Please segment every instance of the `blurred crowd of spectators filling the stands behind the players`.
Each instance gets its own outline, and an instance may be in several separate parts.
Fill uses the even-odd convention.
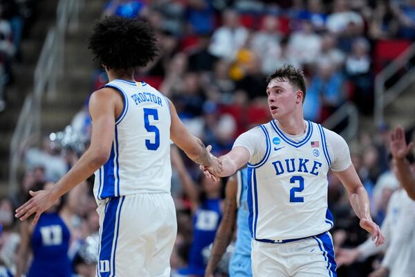
[[[374,75],[396,57],[391,52],[397,55],[415,39],[414,0],[110,0],[104,15],[145,20],[156,30],[160,55],[136,73],[136,80],[169,97],[186,127],[205,145],[212,145],[215,155],[228,152],[242,132],[270,120],[266,76],[278,66],[293,64],[306,74],[306,119],[321,123],[347,101],[370,115]],[[378,55],[388,48],[390,55]],[[106,82],[107,75],[97,68],[91,91]],[[0,200],[0,263],[5,270],[15,270],[21,258],[20,240],[27,235],[13,219],[15,207],[28,198],[28,190],[62,177],[88,147],[90,132],[86,100],[70,126],[45,136],[42,148],[22,145],[26,171],[21,193]],[[372,217],[379,225],[388,216],[389,198],[399,189],[388,158],[390,132],[383,123],[376,126],[376,134],[360,131],[350,145],[353,164],[369,193]],[[409,141],[414,141],[412,133],[413,129],[407,132]],[[203,249],[212,243],[221,219],[221,209],[212,207],[220,206],[226,180],[212,184],[174,146],[172,165],[178,220],[172,276],[203,276]],[[99,224],[92,181],[78,186],[62,202],[57,213],[71,232],[68,256],[73,271],[95,276]],[[379,267],[385,251],[360,259],[351,256],[350,249],[365,242],[367,233],[360,229],[347,193],[334,175],[329,175],[329,208],[342,265],[338,276],[368,276]],[[205,222],[194,222],[194,215],[206,209],[210,213],[203,217]],[[194,251],[199,253],[196,258],[190,255]],[[225,268],[218,276],[227,276]]]

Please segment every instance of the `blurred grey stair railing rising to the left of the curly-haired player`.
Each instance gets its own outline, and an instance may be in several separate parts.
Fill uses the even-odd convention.
[[[39,134],[41,127],[42,96],[47,99],[56,95],[57,79],[64,74],[64,44],[66,30],[76,30],[83,0],[59,0],[56,25],[48,30],[33,76],[33,91],[28,93],[19,114],[17,126],[10,143],[9,193],[19,189],[18,175],[21,168],[21,145],[30,135]]]

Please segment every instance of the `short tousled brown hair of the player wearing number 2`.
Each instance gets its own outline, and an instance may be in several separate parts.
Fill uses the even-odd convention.
[[[284,64],[277,69],[273,74],[266,78],[266,83],[269,84],[271,80],[277,79],[279,82],[290,82],[303,92],[303,103],[306,99],[306,80],[301,69],[296,69],[293,64]]]

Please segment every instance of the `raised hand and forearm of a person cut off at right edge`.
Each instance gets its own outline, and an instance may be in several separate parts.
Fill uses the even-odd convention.
[[[390,149],[391,154],[396,161],[398,179],[400,184],[402,184],[403,188],[407,191],[409,197],[415,200],[415,177],[412,175],[407,159],[405,159],[413,145],[413,142],[407,145],[402,127],[397,127],[395,132],[391,134]]]

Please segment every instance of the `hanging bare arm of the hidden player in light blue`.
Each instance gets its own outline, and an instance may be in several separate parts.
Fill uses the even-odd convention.
[[[223,217],[214,238],[212,253],[210,254],[205,277],[212,277],[226,247],[232,240],[237,212],[237,177],[232,175],[226,184],[226,197],[224,201]]]

